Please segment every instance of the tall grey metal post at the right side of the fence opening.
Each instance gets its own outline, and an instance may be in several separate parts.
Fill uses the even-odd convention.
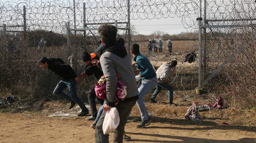
[[[200,0],[200,17],[198,18],[198,40],[199,40],[199,63],[198,63],[198,88],[201,88],[201,23],[202,23],[202,1]]]

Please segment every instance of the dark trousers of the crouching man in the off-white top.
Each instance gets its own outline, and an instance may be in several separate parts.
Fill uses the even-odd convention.
[[[151,96],[152,99],[156,99],[156,95],[160,93],[162,88],[168,89],[168,99],[169,103],[173,103],[173,86],[168,83],[157,83],[156,90]]]

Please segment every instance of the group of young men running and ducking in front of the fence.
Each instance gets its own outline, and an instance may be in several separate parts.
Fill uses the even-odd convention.
[[[86,116],[89,111],[76,94],[76,82],[81,81],[83,77],[95,75],[100,79],[102,75],[106,79],[106,98],[104,100],[98,98],[93,88],[88,94],[88,102],[90,104],[91,116],[87,120],[94,120],[91,127],[95,129],[95,142],[109,142],[109,135],[104,135],[102,124],[106,115],[106,111],[111,107],[117,108],[119,112],[120,122],[114,131],[114,142],[122,142],[129,140],[130,137],[124,133],[124,127],[131,113],[132,107],[137,103],[141,114],[141,122],[137,127],[145,127],[151,124],[148,111],[144,104],[143,98],[150,90],[156,87],[150,102],[156,103],[155,98],[162,88],[168,89],[169,105],[173,104],[173,87],[170,85],[170,79],[175,73],[176,60],[165,62],[155,72],[149,59],[140,53],[139,44],[133,44],[130,53],[134,57],[132,64],[129,54],[124,46],[124,39],[116,38],[117,28],[114,25],[101,25],[98,32],[104,47],[97,53],[84,52],[82,56],[83,62],[86,64],[85,70],[80,76],[77,76],[70,65],[66,65],[60,58],[40,59],[40,67],[42,69],[50,69],[57,75],[61,76],[61,81],[57,84],[53,94],[61,95],[71,101],[70,109],[78,104],[81,113],[78,116]],[[134,70],[136,69],[136,70]],[[138,74],[136,74],[139,72]],[[135,75],[136,74],[136,75]],[[119,78],[117,78],[119,75]],[[126,86],[127,94],[124,100],[119,100],[119,104],[115,103],[116,90],[118,80],[121,80]],[[141,80],[141,85],[137,88],[136,81]],[[63,89],[68,88],[70,95],[63,93]],[[98,99],[102,105],[97,112],[95,99]]]

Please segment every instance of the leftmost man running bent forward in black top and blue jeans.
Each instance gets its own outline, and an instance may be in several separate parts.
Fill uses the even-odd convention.
[[[86,108],[85,104],[81,101],[80,98],[77,97],[76,94],[76,81],[78,80],[78,77],[76,76],[76,73],[74,70],[70,67],[70,65],[64,64],[63,60],[60,58],[46,58],[43,57],[39,60],[40,68],[42,69],[49,69],[55,74],[61,76],[62,80],[58,82],[56,88],[53,90],[53,94],[60,95],[63,98],[66,98],[67,100],[71,101],[70,108],[73,108],[75,104],[77,103],[81,108],[81,113],[78,114],[78,116],[86,116],[89,111]],[[67,95],[62,92],[65,88],[68,88],[70,91],[70,95]]]

